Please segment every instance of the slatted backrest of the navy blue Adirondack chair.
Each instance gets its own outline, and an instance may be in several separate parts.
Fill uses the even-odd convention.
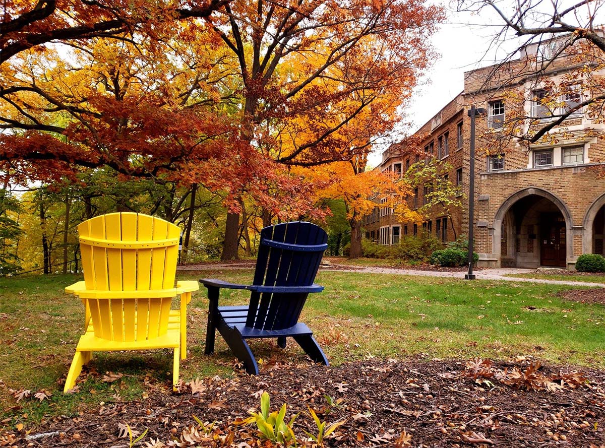
[[[328,235],[310,222],[284,222],[261,230],[253,285],[306,287],[313,284]],[[246,325],[283,330],[298,322],[309,293],[253,293]],[[260,296],[260,297],[259,297]],[[260,299],[260,300],[259,300]]]

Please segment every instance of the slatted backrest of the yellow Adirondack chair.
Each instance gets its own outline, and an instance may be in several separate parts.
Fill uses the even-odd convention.
[[[168,330],[180,229],[140,213],[110,213],[78,226],[94,335],[137,341]]]

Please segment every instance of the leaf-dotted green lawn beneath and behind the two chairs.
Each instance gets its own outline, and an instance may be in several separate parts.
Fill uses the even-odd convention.
[[[178,279],[201,277],[249,282],[252,270],[180,272]],[[62,395],[57,383],[67,374],[82,333],[83,305],[63,292],[77,276],[18,276],[0,280],[0,411],[27,421],[69,414],[100,401],[139,400],[150,387],[168,387],[172,354],[166,350],[95,354],[81,392]],[[333,364],[363,357],[425,359],[480,356],[505,359],[532,354],[555,363],[605,367],[605,307],[566,302],[561,285],[410,277],[355,272],[320,272],[321,294],[311,294],[302,320]],[[245,303],[244,291],[224,290],[222,304]],[[203,354],[208,301],[194,294],[188,313],[189,356],[180,377],[229,375],[234,356],[217,336],[212,357]],[[253,341],[257,358],[277,355],[306,363],[292,342],[285,351],[273,341]],[[95,374],[97,372],[98,374]],[[124,376],[102,381],[105,372]],[[44,389],[53,394],[39,403],[16,406],[8,388]],[[27,422],[26,422],[27,423]],[[2,425],[0,424],[0,429]]]

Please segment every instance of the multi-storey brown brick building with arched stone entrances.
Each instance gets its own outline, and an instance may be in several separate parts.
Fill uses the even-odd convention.
[[[553,62],[544,54],[556,50],[561,39],[565,37],[541,47],[529,45],[520,59],[506,64],[465,73],[464,91],[416,132],[425,135],[420,148],[427,157],[450,165],[446,176],[464,193],[460,196],[462,207],[449,216],[434,210],[420,227],[397,222],[393,210],[378,206],[365,219],[365,238],[396,244],[404,235],[423,231],[444,242],[468,234],[467,112],[476,105],[487,111],[486,117],[476,119],[473,200],[474,248],[479,265],[573,269],[582,253],[604,253],[605,181],[598,178],[598,170],[605,160],[605,142],[599,137],[605,125],[591,121],[586,110],[580,109],[552,129],[553,138],[548,141],[522,144],[514,139],[498,140],[498,133],[504,134],[507,111],[515,108],[539,118],[534,126],[554,120],[539,99],[544,93],[543,79],[556,83],[573,69],[574,60],[569,56],[559,56]],[[535,73],[540,68],[543,73],[538,78]],[[520,94],[514,97],[511,91]],[[579,105],[590,94],[570,88],[558,107]],[[494,149],[494,141],[499,141],[498,149]],[[405,174],[407,167],[421,159],[417,149],[394,144],[384,152],[376,169]],[[411,209],[422,204],[426,192],[422,187],[414,190],[408,197]],[[384,198],[376,198],[378,204],[381,201]]]

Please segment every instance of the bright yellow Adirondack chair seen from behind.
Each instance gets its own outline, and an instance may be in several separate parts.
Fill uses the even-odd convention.
[[[140,213],[110,213],[78,226],[84,281],[67,288],[85,305],[85,334],[65,381],[64,392],[94,351],[174,348],[173,387],[187,355],[187,304],[196,281],[177,282],[180,229]],[[171,310],[180,294],[180,310]]]

